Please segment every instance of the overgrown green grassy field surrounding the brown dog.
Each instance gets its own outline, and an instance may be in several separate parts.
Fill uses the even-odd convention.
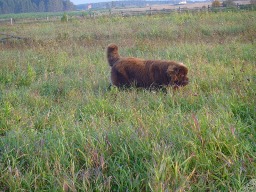
[[[1,25],[0,190],[238,191],[256,178],[256,12]],[[105,48],[189,69],[108,89]]]

